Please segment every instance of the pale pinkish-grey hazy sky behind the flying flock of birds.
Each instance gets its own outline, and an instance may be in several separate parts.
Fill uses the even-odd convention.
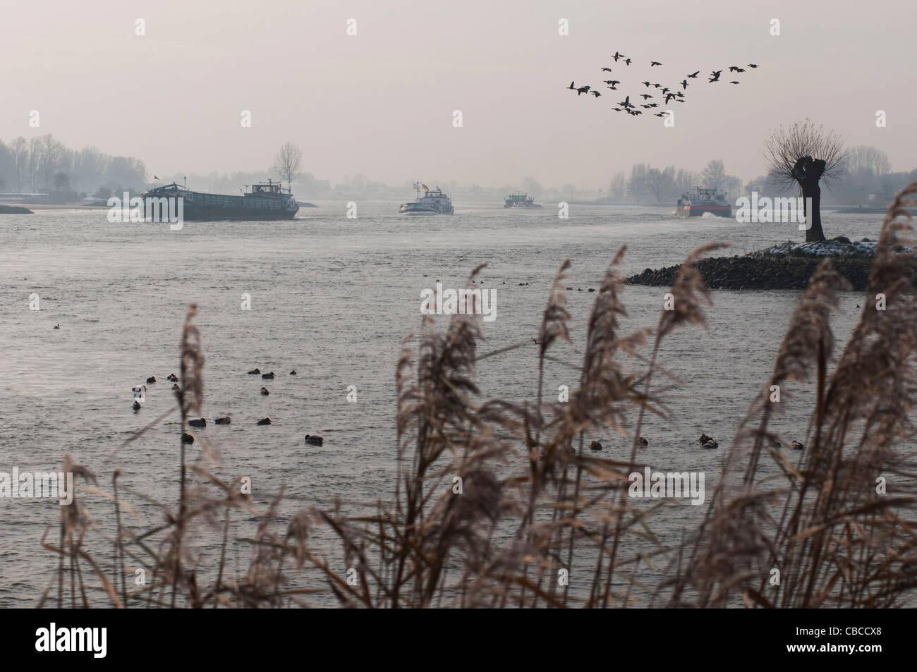
[[[283,141],[340,181],[605,187],[635,161],[763,172],[768,129],[806,116],[917,166],[914,30],[900,2],[0,0],[0,139],[52,133],[153,172],[256,170]],[[146,35],[135,34],[136,21]],[[348,19],[356,36],[348,36]],[[558,35],[558,21],[569,35]],[[770,20],[780,35],[770,35]],[[620,50],[635,62],[614,65]],[[649,61],[662,67],[649,70]],[[703,75],[759,64],[738,86]],[[602,65],[613,73],[600,72]],[[675,127],[611,111],[690,80]],[[725,72],[722,79],[734,79]],[[570,80],[619,92],[566,90]],[[621,94],[621,95],[618,95]],[[633,102],[633,98],[632,98]],[[674,104],[673,104],[674,105]],[[39,110],[40,127],[28,126]],[[453,127],[453,110],[463,127]],[[888,126],[877,128],[876,111]],[[250,110],[251,127],[240,125]]]

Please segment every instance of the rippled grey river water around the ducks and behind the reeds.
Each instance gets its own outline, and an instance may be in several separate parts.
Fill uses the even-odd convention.
[[[575,327],[560,359],[578,363],[582,325],[602,274],[627,245],[624,270],[679,263],[704,242],[724,241],[742,254],[801,239],[791,225],[738,225],[730,219],[679,220],[672,208],[571,205],[510,211],[457,204],[453,216],[404,218],[397,203],[321,203],[280,223],[109,224],[105,211],[40,211],[0,216],[0,470],[60,468],[63,456],[91,468],[110,490],[112,472],[153,500],[177,494],[177,432],[172,413],[120,452],[122,441],[166,412],[174,400],[165,379],[178,373],[178,347],[188,303],[197,303],[206,363],[204,416],[229,414],[232,424],[193,430],[220,455],[227,479],[249,475],[257,500],[286,486],[293,502],[387,499],[394,470],[394,369],[404,336],[420,325],[420,295],[463,286],[487,262],[481,279],[495,289],[497,318],[484,323],[480,352],[532,343],[554,274],[572,259],[567,285]],[[882,215],[825,214],[828,236],[875,238]],[[520,285],[520,283],[526,283]],[[580,289],[582,291],[580,291]],[[628,287],[628,329],[655,324],[664,288]],[[40,310],[29,310],[39,295]],[[241,310],[249,294],[251,310]],[[645,459],[659,468],[702,470],[711,491],[724,448],[771,369],[799,292],[713,292],[710,328],[672,336],[660,364],[679,378],[667,395],[669,419],[650,417]],[[842,298],[835,335],[856,321],[856,292]],[[439,318],[443,321],[445,318]],[[60,330],[52,327],[60,324]],[[636,366],[627,362],[628,366]],[[273,371],[262,381],[246,371]],[[296,369],[297,376],[289,371]],[[575,386],[578,372],[551,363],[548,391]],[[142,410],[131,410],[131,387],[148,376]],[[483,396],[514,401],[536,396],[536,346],[481,362]],[[270,396],[260,395],[264,384]],[[357,402],[348,402],[348,386]],[[775,425],[789,438],[806,430],[806,388]],[[256,426],[265,416],[270,426]],[[702,432],[721,441],[698,449]],[[324,446],[305,446],[304,435]],[[607,457],[629,446],[597,433]],[[110,502],[87,494],[101,538],[110,539]],[[132,500],[128,524],[156,523],[160,513]],[[0,606],[35,604],[54,579],[54,556],[42,535],[56,534],[59,507],[50,501],[0,499]],[[677,539],[704,507],[672,506],[654,531]],[[200,532],[202,538],[213,534]],[[319,537],[316,543],[321,544]],[[110,556],[110,545],[104,546]],[[333,559],[337,546],[326,548]],[[244,567],[247,551],[234,563]],[[657,572],[664,570],[658,567]]]

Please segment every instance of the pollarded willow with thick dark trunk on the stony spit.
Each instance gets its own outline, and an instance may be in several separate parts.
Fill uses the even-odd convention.
[[[824,240],[822,230],[822,187],[846,171],[844,139],[833,130],[806,119],[789,128],[772,131],[764,145],[768,170],[777,182],[799,184],[806,208],[807,243]],[[811,201],[809,199],[812,199]],[[812,204],[812,212],[809,212]]]

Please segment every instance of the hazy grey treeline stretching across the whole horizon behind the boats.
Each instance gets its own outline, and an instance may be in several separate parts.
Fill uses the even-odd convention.
[[[885,152],[874,147],[859,146],[846,153],[846,172],[833,184],[823,185],[823,204],[869,204],[887,202],[904,185],[917,179],[917,170],[891,172]],[[143,161],[133,157],[110,156],[93,147],[68,149],[50,134],[35,138],[0,141],[0,193],[49,193],[52,202],[72,201],[83,195],[107,198],[122,192],[145,191],[153,175]],[[190,189],[213,193],[239,193],[253,182],[277,179],[274,169],[237,171],[232,173],[160,174],[159,183],[187,182]],[[567,183],[542,186],[532,176],[520,182],[498,187],[479,184],[462,185],[455,180],[436,181],[435,177],[420,175],[430,188],[439,186],[458,202],[502,203],[512,192],[525,192],[536,202],[601,201],[613,204],[674,205],[681,194],[702,186],[726,193],[727,199],[757,192],[768,196],[798,195],[768,175],[743,182],[726,172],[722,160],[711,160],[702,171],[668,166],[654,168],[646,163],[632,166],[630,174],[616,173],[604,190],[586,189]],[[316,179],[311,172],[301,173],[293,182],[293,194],[300,200],[378,199],[405,201],[414,195],[417,177],[406,178],[401,184],[373,182],[363,173],[347,175],[332,184]]]

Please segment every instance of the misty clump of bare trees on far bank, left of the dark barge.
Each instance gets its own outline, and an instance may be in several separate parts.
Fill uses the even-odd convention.
[[[95,149],[68,149],[50,134],[0,140],[0,192],[49,193],[52,201],[80,194],[107,198],[134,192],[147,182],[143,161],[110,156]]]

